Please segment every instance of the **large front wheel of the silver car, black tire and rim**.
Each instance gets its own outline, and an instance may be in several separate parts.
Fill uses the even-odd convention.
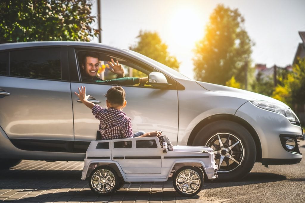
[[[218,136],[223,147],[220,146]],[[208,146],[218,151],[218,154],[215,153],[218,180],[241,179],[251,171],[255,163],[256,146],[253,137],[245,127],[232,121],[215,121],[204,126],[196,135],[193,145]]]

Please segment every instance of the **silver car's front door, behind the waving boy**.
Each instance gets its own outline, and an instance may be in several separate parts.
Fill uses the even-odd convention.
[[[82,50],[82,49],[80,49]],[[92,50],[95,52],[106,52],[105,50]],[[126,57],[121,53],[113,52],[111,55],[116,57]],[[70,71],[79,73],[79,61],[74,49],[69,49],[69,59],[72,66]],[[81,60],[81,59],[78,59]],[[136,60],[135,60],[136,61]],[[73,73],[71,73],[73,74]],[[99,130],[99,120],[95,119],[91,110],[78,101],[74,91],[80,86],[86,87],[87,95],[91,95],[91,101],[106,108],[107,90],[112,84],[84,83],[79,82],[80,78],[75,76],[74,82],[71,81],[73,115],[74,115],[74,139],[77,146],[83,145],[83,149],[88,148],[88,142],[95,140],[96,131]],[[177,141],[178,134],[178,96],[175,84],[170,89],[158,89],[154,87],[128,86],[121,85],[126,91],[127,106],[123,109],[127,116],[131,118],[134,133],[137,131],[163,130],[163,134],[170,137],[173,143]]]

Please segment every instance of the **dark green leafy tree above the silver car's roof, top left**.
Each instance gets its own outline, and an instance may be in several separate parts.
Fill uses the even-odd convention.
[[[0,1],[0,41],[91,41],[99,30],[86,0]]]

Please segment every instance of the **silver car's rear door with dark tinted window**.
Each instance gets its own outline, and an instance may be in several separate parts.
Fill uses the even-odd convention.
[[[9,66],[0,75],[0,91],[7,94],[0,95],[0,126],[20,149],[72,151],[67,49],[23,48],[6,54]]]

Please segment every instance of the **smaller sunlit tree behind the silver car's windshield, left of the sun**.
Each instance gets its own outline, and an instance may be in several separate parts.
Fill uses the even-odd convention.
[[[175,56],[171,56],[169,54],[167,51],[167,45],[162,42],[158,33],[149,31],[143,32],[140,30],[137,38],[138,42],[135,45],[130,46],[130,50],[143,54],[174,70],[179,71],[180,62],[178,62]]]

